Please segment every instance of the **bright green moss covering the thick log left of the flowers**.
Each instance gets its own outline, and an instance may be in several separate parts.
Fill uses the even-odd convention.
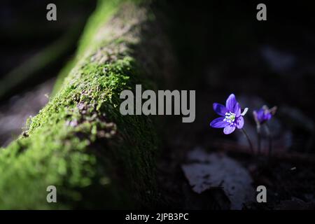
[[[99,4],[92,20],[99,22],[89,23],[80,43],[82,58],[55,97],[29,121],[25,134],[1,149],[0,209],[130,208],[153,203],[155,125],[147,116],[119,112],[120,92],[136,83],[146,86],[144,73],[130,48],[104,63],[94,59],[109,45],[135,43],[124,36],[120,41],[94,41],[95,32],[118,6],[117,1]],[[137,11],[137,6],[130,7]],[[50,185],[57,187],[58,203],[46,202]]]

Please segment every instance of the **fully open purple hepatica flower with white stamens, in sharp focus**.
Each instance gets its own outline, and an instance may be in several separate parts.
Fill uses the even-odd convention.
[[[225,106],[214,103],[214,111],[221,117],[212,120],[210,126],[224,128],[224,134],[231,134],[236,127],[241,129],[244,126],[244,118],[242,116],[245,115],[248,109],[244,109],[243,113],[241,113],[241,107],[235,98],[235,94],[230,94]]]

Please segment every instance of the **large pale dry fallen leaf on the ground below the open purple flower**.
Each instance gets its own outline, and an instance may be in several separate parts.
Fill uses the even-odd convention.
[[[196,148],[188,153],[191,163],[182,165],[190,186],[196,193],[209,188],[223,188],[231,202],[231,209],[242,209],[243,204],[254,199],[253,180],[239,162],[226,155],[206,153]]]

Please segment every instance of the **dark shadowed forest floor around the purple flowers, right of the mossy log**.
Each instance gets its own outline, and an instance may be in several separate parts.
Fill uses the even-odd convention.
[[[285,20],[280,11],[269,14],[272,22],[258,23],[246,3],[211,6],[177,8],[176,13],[170,6],[166,13],[175,21],[166,27],[180,64],[174,89],[196,90],[196,120],[167,118],[158,166],[162,195],[172,208],[314,209],[311,25]],[[231,93],[242,109],[249,108],[244,128],[254,148],[253,110],[278,107],[269,121],[272,155],[266,134],[258,155],[240,131],[225,135],[209,126],[217,117],[212,104],[225,104]],[[267,203],[256,201],[258,186],[267,188]]]

